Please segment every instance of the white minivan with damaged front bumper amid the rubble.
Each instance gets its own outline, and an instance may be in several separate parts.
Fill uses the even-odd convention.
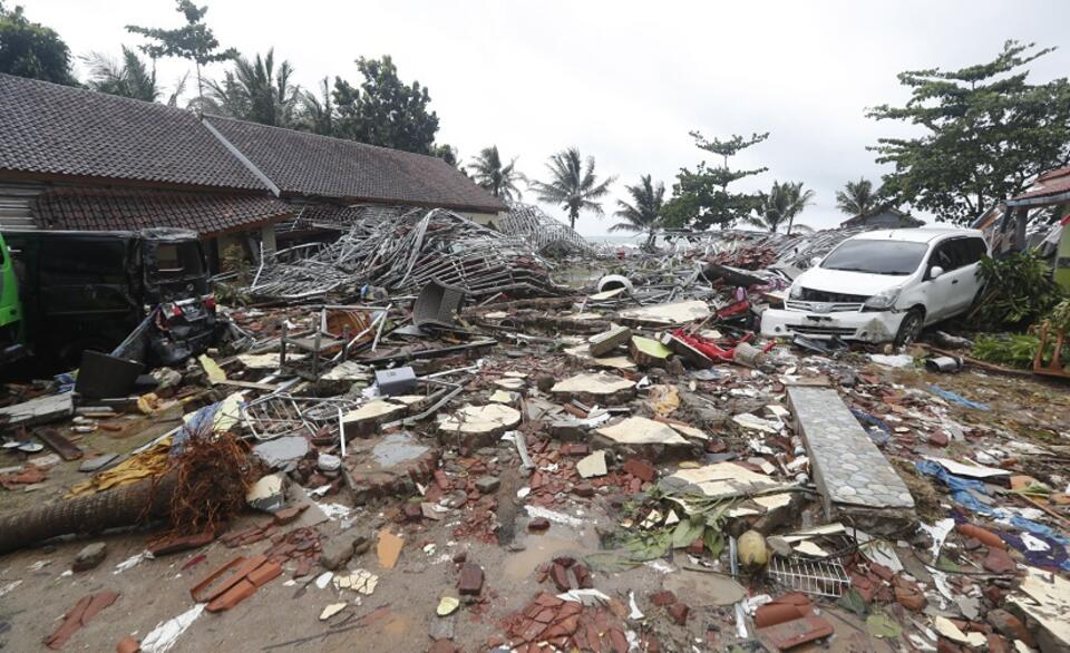
[[[858,234],[800,274],[782,310],[761,314],[761,334],[908,344],[923,326],[973,305],[988,253],[976,230]]]

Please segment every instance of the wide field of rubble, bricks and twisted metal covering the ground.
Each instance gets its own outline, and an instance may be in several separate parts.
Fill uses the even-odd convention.
[[[358,223],[256,283],[367,301],[221,306],[240,350],[107,406],[11,388],[0,642],[1066,650],[1066,388],[946,334],[765,340],[778,265],[828,243],[728,234],[565,293],[459,216]],[[450,243],[493,265],[432,279]],[[101,587],[106,628],[32,616]]]

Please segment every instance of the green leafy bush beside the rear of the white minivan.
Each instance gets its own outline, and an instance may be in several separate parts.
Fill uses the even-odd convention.
[[[977,266],[977,274],[984,290],[967,320],[979,329],[1028,326],[1061,299],[1048,266],[1030,252],[999,260],[985,256]]]

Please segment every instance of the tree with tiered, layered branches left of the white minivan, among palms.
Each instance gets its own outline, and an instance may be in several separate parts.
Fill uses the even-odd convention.
[[[690,225],[699,230],[731,226],[745,220],[757,207],[758,194],[732,193],[728,186],[768,168],[732,169],[728,159],[761,143],[769,133],[752,134],[750,138],[732,135],[728,140],[707,140],[699,131],[691,131],[691,137],[699,149],[716,154],[721,160],[714,165],[703,160],[694,172],[680,168],[672,185],[672,198],[665,204],[665,220],[674,226]]]

